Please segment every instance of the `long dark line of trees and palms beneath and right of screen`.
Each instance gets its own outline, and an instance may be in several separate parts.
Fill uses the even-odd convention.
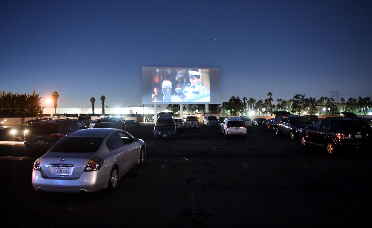
[[[231,96],[227,102],[217,105],[209,105],[210,111],[218,113],[222,112],[224,116],[246,115],[248,112],[254,112],[254,115],[272,115],[274,111],[288,111],[297,115],[306,113],[308,115],[339,115],[337,102],[332,97],[305,97],[305,94],[296,94],[292,99],[276,99],[277,104],[273,103],[273,93],[267,93],[268,98],[256,100],[253,97],[240,98],[239,96]],[[316,106],[324,105],[324,110],[318,110]],[[367,115],[372,111],[371,97],[349,97],[345,100],[343,97],[340,103],[344,111],[359,113],[359,115]],[[183,105],[183,109],[188,113],[203,113],[205,105]],[[168,105],[167,109],[175,114],[179,114],[179,105]]]

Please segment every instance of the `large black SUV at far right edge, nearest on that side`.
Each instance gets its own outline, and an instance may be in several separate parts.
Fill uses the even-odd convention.
[[[300,142],[303,147],[308,144],[325,147],[328,154],[342,149],[370,150],[372,129],[360,119],[330,117],[303,128]]]

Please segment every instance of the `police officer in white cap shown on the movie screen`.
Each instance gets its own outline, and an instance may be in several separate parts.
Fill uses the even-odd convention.
[[[195,100],[207,94],[207,88],[200,83],[200,76],[202,74],[198,71],[189,71],[190,83],[187,83],[187,86],[183,89],[183,94],[186,96],[182,98],[183,101]]]

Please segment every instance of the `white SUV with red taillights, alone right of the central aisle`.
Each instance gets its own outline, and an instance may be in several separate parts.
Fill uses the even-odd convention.
[[[247,138],[247,128],[244,121],[237,117],[225,118],[221,123],[221,134],[227,139],[231,135],[242,135]]]

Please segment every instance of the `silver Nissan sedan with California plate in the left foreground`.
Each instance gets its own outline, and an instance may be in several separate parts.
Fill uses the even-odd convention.
[[[47,192],[94,192],[115,189],[120,177],[142,165],[142,139],[110,128],[83,129],[58,141],[33,163],[32,185]]]

